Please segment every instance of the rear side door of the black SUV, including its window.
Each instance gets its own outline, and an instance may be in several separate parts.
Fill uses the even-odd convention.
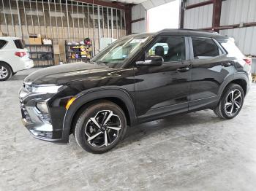
[[[217,101],[219,86],[233,74],[233,61],[215,39],[191,37],[192,83],[189,110],[208,107]]]

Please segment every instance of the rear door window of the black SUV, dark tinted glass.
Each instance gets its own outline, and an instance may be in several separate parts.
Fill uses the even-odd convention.
[[[222,55],[222,50],[212,39],[192,37],[194,59],[213,58]]]

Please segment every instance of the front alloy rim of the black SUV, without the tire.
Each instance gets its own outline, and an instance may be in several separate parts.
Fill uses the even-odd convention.
[[[118,138],[119,130],[121,120],[118,115],[102,110],[86,123],[86,140],[93,147],[108,147]]]

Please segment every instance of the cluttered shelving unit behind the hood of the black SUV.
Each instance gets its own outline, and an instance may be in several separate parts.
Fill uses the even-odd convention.
[[[80,46],[84,46],[84,47],[86,47],[90,50],[90,51],[86,51],[86,52],[89,52],[89,57],[86,57],[86,55],[81,55],[81,52],[83,52],[83,51],[81,51],[80,48],[75,48],[75,47],[80,47]],[[75,49],[77,49],[77,50],[75,50]],[[67,40],[66,40],[65,41],[65,52],[66,52],[66,61],[67,61],[67,63],[72,62],[72,61],[75,61],[75,62],[77,62],[77,61],[89,61],[89,59],[91,58],[91,45],[67,44]]]

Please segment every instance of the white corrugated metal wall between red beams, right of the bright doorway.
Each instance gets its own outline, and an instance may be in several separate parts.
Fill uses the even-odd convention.
[[[185,6],[206,0],[187,0]],[[256,22],[256,0],[222,1],[220,26]],[[213,4],[187,9],[184,12],[184,28],[211,28]],[[256,27],[232,28],[219,31],[233,36],[245,55],[256,56]]]

